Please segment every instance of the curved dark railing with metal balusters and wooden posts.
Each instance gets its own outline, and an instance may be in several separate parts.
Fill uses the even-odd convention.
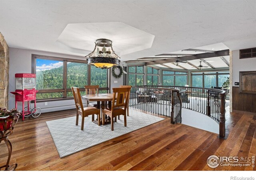
[[[144,95],[138,94],[138,91]],[[168,93],[172,94],[171,97]],[[181,123],[182,120],[178,120],[180,105],[180,110],[194,110],[214,119],[219,124],[219,137],[225,138],[225,96],[224,90],[213,88],[132,86],[130,107],[171,117],[171,123]],[[176,101],[180,99],[180,103],[175,102],[175,97]]]

